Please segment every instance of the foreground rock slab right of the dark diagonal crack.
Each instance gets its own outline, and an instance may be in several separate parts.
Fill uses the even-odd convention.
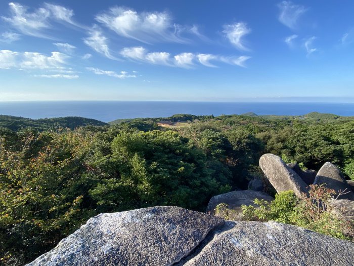
[[[229,225],[228,225],[229,226]],[[277,222],[235,222],[184,265],[353,265],[354,245]]]

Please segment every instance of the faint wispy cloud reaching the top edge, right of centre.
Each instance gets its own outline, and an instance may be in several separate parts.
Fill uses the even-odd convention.
[[[291,1],[283,1],[278,7],[279,21],[291,29],[296,28],[299,17],[307,11],[304,6],[294,5]]]

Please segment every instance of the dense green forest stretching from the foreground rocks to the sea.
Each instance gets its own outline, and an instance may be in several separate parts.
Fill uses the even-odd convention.
[[[0,117],[3,264],[31,261],[102,212],[153,205],[205,211],[212,196],[263,179],[264,153],[315,170],[330,161],[354,180],[353,117],[174,115],[110,124]]]

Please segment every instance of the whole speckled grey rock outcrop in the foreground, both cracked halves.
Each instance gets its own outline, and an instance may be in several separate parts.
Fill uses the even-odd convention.
[[[179,207],[104,213],[27,265],[341,265],[354,245],[277,222],[224,221]]]

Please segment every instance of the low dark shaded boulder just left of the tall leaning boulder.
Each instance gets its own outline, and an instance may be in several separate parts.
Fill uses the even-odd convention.
[[[229,206],[229,209],[232,210],[232,212],[229,213],[229,219],[242,220],[243,215],[241,206],[256,206],[253,203],[255,199],[262,199],[269,202],[274,200],[274,198],[264,192],[251,190],[232,191],[212,197],[208,203],[208,207],[206,208],[206,213],[215,214],[214,210],[216,206],[220,203],[226,203]],[[223,213],[220,213],[220,215],[223,215]]]

